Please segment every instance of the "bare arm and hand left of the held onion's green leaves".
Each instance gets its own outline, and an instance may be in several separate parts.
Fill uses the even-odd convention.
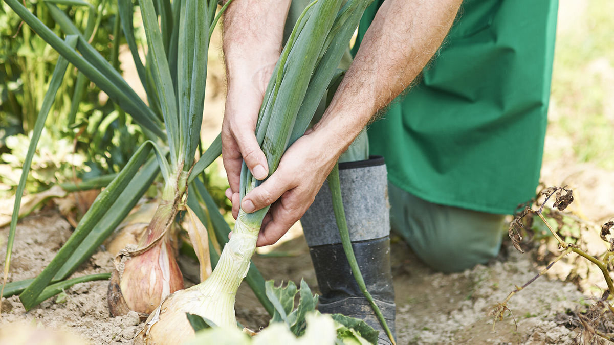
[[[224,12],[222,48],[228,88],[222,160],[230,185],[227,196],[235,211],[243,160],[255,178],[268,176],[254,131],[266,85],[281,52],[289,6],[290,0],[233,1]]]

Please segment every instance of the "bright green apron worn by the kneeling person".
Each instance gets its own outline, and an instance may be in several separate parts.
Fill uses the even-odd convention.
[[[356,47],[382,0],[359,26]],[[436,204],[513,213],[535,195],[556,0],[467,0],[421,81],[368,129],[392,184]],[[355,47],[355,51],[356,51]]]

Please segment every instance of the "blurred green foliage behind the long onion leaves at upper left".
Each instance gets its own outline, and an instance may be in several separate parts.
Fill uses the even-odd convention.
[[[61,25],[56,21],[60,9],[56,5],[63,7],[65,10],[61,12],[72,25],[83,31],[90,44],[115,68],[119,68],[119,45],[125,40],[113,39],[115,36],[121,39],[117,2],[25,2],[42,23],[60,35]],[[7,138],[33,130],[57,59],[58,53],[28,25],[22,25],[21,18],[1,2],[0,152],[10,152]],[[84,155],[85,162],[77,165],[75,172],[86,179],[119,171],[144,141],[142,131],[134,125],[131,117],[99,97],[100,93],[99,88],[77,69],[69,68],[53,101],[54,121],[45,126],[46,135],[52,141],[68,140],[72,142],[73,152]],[[60,123],[69,123],[70,126]],[[0,163],[14,160],[4,155]]]

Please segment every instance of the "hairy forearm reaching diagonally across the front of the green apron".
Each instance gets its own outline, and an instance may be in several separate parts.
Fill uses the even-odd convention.
[[[340,155],[437,52],[461,0],[386,0],[314,134]]]

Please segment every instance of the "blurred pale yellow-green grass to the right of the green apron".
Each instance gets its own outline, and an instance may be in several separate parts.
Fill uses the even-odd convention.
[[[573,10],[559,16],[548,131],[569,139],[578,161],[614,169],[614,2],[568,6]]]

